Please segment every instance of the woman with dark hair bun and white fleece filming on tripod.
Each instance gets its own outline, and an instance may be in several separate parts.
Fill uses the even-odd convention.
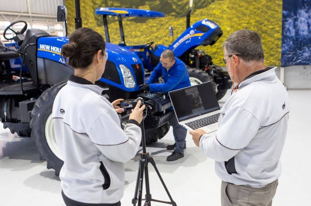
[[[61,51],[74,68],[53,104],[56,142],[64,164],[60,171],[66,205],[119,206],[124,191],[124,165],[138,150],[142,133],[141,102],[121,129],[116,106],[101,96],[105,88],[95,85],[106,64],[103,37],[89,28],[79,28]]]

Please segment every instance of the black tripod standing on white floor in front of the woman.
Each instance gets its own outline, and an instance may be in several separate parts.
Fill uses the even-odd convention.
[[[142,129],[142,153],[139,158],[139,168],[138,168],[138,175],[137,175],[137,181],[136,181],[135,195],[134,195],[134,198],[132,199],[132,204],[133,206],[136,206],[136,203],[138,202],[138,206],[141,206],[142,200],[146,200],[144,206],[151,206],[151,201],[177,206],[174,200],[172,199],[171,195],[169,194],[169,190],[165,186],[165,183],[160,175],[160,172],[158,168],[156,167],[155,161],[153,160],[151,156],[149,156],[149,153],[146,152],[144,120],[142,120],[142,123],[140,124],[140,128]],[[156,173],[159,176],[160,181],[167,195],[169,196],[170,202],[156,200],[156,199],[151,198],[150,188],[149,188],[148,163],[151,163],[152,166],[155,168]],[[146,195],[145,195],[146,199],[142,199],[142,186],[143,186],[144,173],[145,173],[145,181],[146,181]],[[138,198],[137,198],[137,195],[138,195]]]

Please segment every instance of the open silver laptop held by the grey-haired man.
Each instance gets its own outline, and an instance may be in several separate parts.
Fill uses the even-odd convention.
[[[192,131],[207,133],[218,129],[220,106],[211,82],[169,92],[178,123]]]

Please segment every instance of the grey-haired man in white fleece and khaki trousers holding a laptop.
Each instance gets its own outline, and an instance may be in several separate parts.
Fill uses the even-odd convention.
[[[221,108],[216,135],[201,129],[190,134],[216,160],[222,206],[272,205],[288,126],[288,93],[276,67],[265,67],[258,33],[235,31],[223,50],[232,82],[238,84]]]

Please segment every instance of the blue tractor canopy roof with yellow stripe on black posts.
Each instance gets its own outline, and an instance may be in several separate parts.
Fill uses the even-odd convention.
[[[109,15],[121,17],[164,17],[165,14],[158,11],[150,11],[144,9],[129,9],[129,8],[97,8],[95,14]]]

